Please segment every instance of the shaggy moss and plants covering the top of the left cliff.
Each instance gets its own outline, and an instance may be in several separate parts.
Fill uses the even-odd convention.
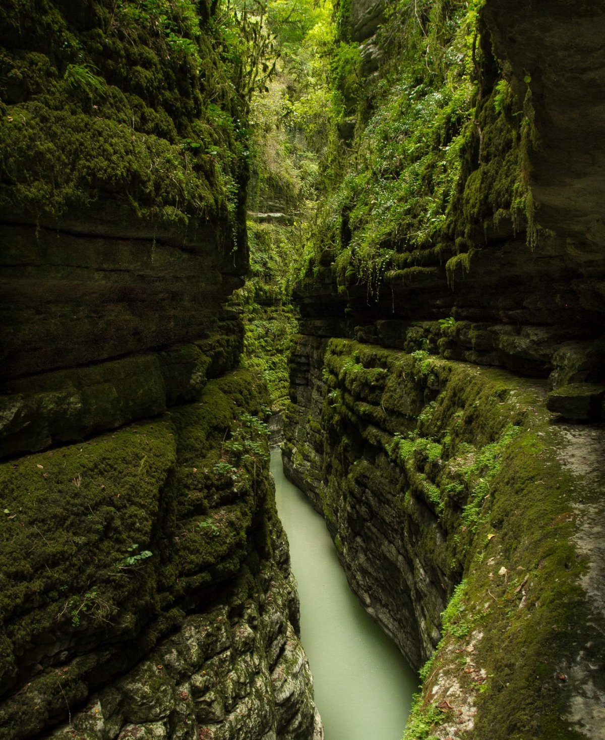
[[[242,147],[223,30],[189,1],[3,7],[0,203],[60,219],[118,200],[185,225],[234,215]],[[36,51],[28,52],[27,49]]]

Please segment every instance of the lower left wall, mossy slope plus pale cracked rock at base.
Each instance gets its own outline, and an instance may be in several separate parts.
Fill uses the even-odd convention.
[[[48,736],[68,707],[98,740],[320,733],[264,404],[234,372],[155,420],[0,465],[7,740]]]

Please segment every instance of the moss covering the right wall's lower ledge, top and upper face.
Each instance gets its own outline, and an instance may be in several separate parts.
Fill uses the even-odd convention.
[[[378,399],[356,382],[376,368],[386,370]],[[586,642],[578,630],[589,630],[591,655],[602,636],[586,626],[577,493],[557,457],[546,384],[345,339],[328,341],[323,380],[320,495],[342,552],[359,536],[359,500],[376,496],[399,536],[411,537],[413,556],[449,583],[442,641],[405,737],[430,737],[450,721],[437,703],[454,682],[477,707],[478,738],[575,737],[561,719],[569,681],[558,673]],[[427,614],[430,625],[439,615]],[[470,643],[473,665],[460,665]]]

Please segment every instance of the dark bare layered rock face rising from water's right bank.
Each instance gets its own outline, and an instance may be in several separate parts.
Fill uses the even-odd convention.
[[[340,505],[328,503],[329,460],[340,450],[337,453],[332,446],[334,440],[325,426],[328,387],[322,371],[326,346],[325,340],[300,337],[292,354],[292,403],[284,420],[284,471],[324,514],[332,536],[339,537],[344,548],[339,551],[342,565],[368,613],[418,668],[439,642],[439,614],[447,599],[447,576],[426,554],[422,559],[416,550],[417,537],[401,521],[397,510],[400,471],[380,465],[372,471],[371,481],[361,476],[352,486],[342,478],[333,480],[334,490],[341,491],[342,511],[334,511]],[[322,425],[317,419],[323,420]],[[362,418],[358,423],[365,428]],[[346,455],[342,463],[345,475],[365,460],[368,443],[359,440],[359,446],[353,446],[350,430],[344,424],[337,434],[346,440],[342,451]],[[373,460],[375,456],[370,453],[368,457]],[[430,512],[419,514],[427,528],[435,525]],[[439,536],[442,538],[442,534]]]

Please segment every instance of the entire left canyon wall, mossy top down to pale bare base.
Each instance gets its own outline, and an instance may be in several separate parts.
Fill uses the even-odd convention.
[[[222,307],[248,266],[225,29],[77,5],[0,10],[1,733],[319,738]]]

